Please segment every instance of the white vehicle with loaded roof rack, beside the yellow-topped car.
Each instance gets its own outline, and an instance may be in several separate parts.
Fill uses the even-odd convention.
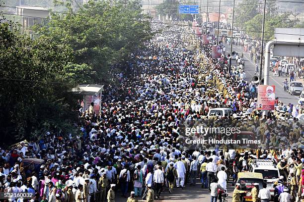
[[[273,160],[255,159],[249,165],[249,172],[262,173],[267,189],[270,191],[271,197],[274,197],[273,184],[279,180],[280,172]]]

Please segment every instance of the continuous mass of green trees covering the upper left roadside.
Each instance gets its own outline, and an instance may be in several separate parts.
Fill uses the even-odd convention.
[[[68,4],[67,13],[55,12],[34,29],[34,39],[20,36],[14,23],[0,22],[0,129],[6,143],[47,130],[75,132],[80,98],[72,88],[105,84],[111,65],[151,39],[137,0],[112,2],[89,1],[78,11]]]

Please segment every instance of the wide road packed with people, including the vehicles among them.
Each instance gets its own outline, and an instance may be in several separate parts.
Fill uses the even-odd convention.
[[[234,61],[230,75],[224,55],[178,23],[113,72],[100,111],[76,111],[76,135],[50,130],[0,150],[0,191],[35,193],[30,202],[304,200],[304,105],[263,115],[248,55],[247,76]],[[280,87],[277,96],[296,101]]]

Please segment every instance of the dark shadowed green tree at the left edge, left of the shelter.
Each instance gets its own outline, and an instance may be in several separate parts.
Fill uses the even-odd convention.
[[[11,23],[0,23],[0,130],[1,143],[31,138],[33,132],[73,132],[77,114],[70,90],[89,80],[74,64],[74,52],[42,36],[35,40],[14,34]],[[73,70],[72,70],[73,68]],[[93,71],[90,74],[94,74]]]

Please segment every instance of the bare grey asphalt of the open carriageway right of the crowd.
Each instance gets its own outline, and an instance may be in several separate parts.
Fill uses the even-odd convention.
[[[226,45],[226,52],[229,52],[230,46],[227,44]],[[240,46],[232,46],[232,50],[236,51],[239,53],[243,52],[244,54],[244,60],[245,60],[245,73],[246,73],[246,81],[251,81],[252,77],[254,76],[254,70],[255,70],[255,65],[254,63],[250,60],[250,55],[248,52],[244,52]],[[235,60],[232,60],[232,64],[235,64]],[[264,69],[262,69],[262,76],[264,75]],[[270,85],[275,85],[276,86],[276,97],[279,97],[280,101],[283,101],[283,103],[292,103],[292,104],[298,104],[299,101],[299,96],[292,96],[288,93],[286,93],[283,90],[283,81],[287,77],[273,77],[273,72],[270,72],[270,79],[269,79],[269,84]],[[288,82],[289,82],[289,78]]]

